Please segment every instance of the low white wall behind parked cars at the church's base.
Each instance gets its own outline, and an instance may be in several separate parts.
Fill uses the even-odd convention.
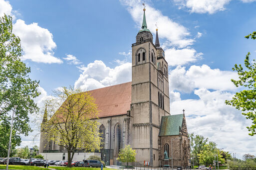
[[[67,153],[39,153],[43,156],[45,160],[55,160],[55,161],[67,161]],[[65,154],[65,159],[63,159],[63,154]],[[83,161],[84,158],[87,160],[91,155],[96,155],[100,157],[100,153],[75,153],[72,161]]]

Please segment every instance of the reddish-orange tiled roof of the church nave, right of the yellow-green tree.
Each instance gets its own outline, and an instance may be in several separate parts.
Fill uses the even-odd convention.
[[[88,91],[100,110],[98,117],[126,114],[132,101],[132,82]]]

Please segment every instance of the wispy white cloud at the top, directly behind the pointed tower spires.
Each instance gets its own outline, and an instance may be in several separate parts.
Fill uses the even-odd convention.
[[[132,15],[133,20],[137,23],[138,29],[141,29],[143,10],[141,8],[140,0],[120,0],[123,4],[128,6],[128,11]],[[152,33],[155,33],[156,22],[159,28],[158,35],[160,38],[165,38],[169,41],[169,45],[174,45],[179,48],[184,48],[192,45],[194,40],[188,38],[190,32],[183,25],[174,22],[168,16],[164,16],[161,11],[151,7],[147,4],[146,20],[148,28]]]

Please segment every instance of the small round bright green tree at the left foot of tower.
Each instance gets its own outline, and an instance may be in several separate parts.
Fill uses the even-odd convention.
[[[136,151],[131,148],[130,145],[126,145],[124,148],[120,149],[117,160],[122,163],[132,163],[135,162]]]

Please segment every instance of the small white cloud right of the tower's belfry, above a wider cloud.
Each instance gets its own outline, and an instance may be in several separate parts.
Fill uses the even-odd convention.
[[[202,55],[203,53],[197,53],[197,51],[193,48],[170,48],[165,50],[165,58],[169,66],[193,63],[201,59]]]

